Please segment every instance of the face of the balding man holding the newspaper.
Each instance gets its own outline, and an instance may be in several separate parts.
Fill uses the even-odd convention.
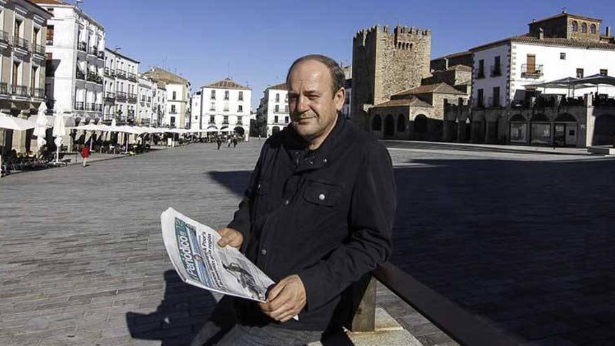
[[[333,94],[331,73],[316,60],[296,64],[288,78],[289,110],[297,133],[318,147],[335,125],[344,88]]]

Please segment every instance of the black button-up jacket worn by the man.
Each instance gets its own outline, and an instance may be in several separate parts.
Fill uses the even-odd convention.
[[[338,116],[315,152],[291,126],[265,142],[229,227],[273,281],[301,277],[307,305],[281,326],[324,331],[342,291],[389,258],[395,204],[386,147]],[[274,322],[254,302],[237,305],[244,321]]]

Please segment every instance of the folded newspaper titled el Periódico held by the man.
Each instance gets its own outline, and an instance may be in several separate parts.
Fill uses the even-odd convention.
[[[164,246],[187,284],[210,291],[266,301],[274,282],[239,250],[220,247],[214,229],[168,208],[160,215]]]

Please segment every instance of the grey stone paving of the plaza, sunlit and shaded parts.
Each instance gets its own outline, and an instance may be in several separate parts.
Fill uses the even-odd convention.
[[[159,215],[223,226],[261,143],[1,178],[0,345],[187,343],[218,297],[171,271]],[[615,161],[411,144],[391,155],[393,263],[523,340],[613,340]],[[382,287],[379,301],[424,344],[454,344]]]

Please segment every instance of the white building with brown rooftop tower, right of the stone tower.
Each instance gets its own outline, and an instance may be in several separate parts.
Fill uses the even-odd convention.
[[[526,99],[533,85],[561,78],[615,74],[615,44],[607,27],[600,34],[602,20],[560,13],[529,24],[528,34],[472,48],[474,74],[472,100],[475,107],[507,106]],[[542,94],[567,94],[566,89],[542,89]],[[577,89],[574,95],[595,92]],[[615,95],[615,87],[603,87],[600,94]]]

